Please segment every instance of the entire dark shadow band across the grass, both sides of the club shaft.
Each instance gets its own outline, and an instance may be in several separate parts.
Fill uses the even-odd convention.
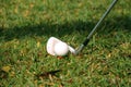
[[[106,29],[104,32],[127,29],[131,32],[131,16],[118,16],[105,20],[102,26]],[[62,37],[64,35],[70,35],[74,30],[79,33],[86,32],[87,34],[95,26],[96,22],[71,22],[64,24],[51,24],[51,23],[40,23],[39,25],[27,25],[27,26],[15,26],[14,28],[2,28],[0,27],[0,39],[5,41],[12,40],[14,38],[23,38],[25,36],[57,36]],[[103,32],[102,32],[103,34]]]

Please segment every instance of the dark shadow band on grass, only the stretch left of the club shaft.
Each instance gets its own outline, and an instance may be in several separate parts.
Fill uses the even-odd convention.
[[[4,40],[12,40],[14,38],[20,39],[26,36],[55,36],[62,37],[64,35],[70,35],[74,30],[86,32],[88,27],[93,27],[94,23],[91,22],[66,22],[64,24],[51,24],[50,22],[41,22],[38,25],[27,25],[27,26],[15,26],[14,28],[1,28],[0,38]]]

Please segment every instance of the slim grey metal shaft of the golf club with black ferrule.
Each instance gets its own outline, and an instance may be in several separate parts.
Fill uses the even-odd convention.
[[[100,17],[100,20],[97,22],[97,24],[95,25],[95,27],[92,29],[92,32],[90,33],[90,35],[87,36],[87,38],[84,40],[84,42],[76,49],[75,54],[78,54],[80,51],[83,50],[83,48],[90,42],[91,37],[93,36],[93,34],[95,33],[95,30],[97,29],[97,27],[100,25],[100,23],[105,20],[105,17],[108,15],[108,13],[111,11],[111,9],[114,8],[114,5],[117,3],[118,0],[114,0],[112,3],[109,5],[109,8],[107,9],[107,11],[103,14],[103,16]]]

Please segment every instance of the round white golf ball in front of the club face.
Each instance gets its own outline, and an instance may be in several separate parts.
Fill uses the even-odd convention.
[[[69,47],[66,42],[58,42],[55,45],[56,55],[66,55],[69,52]]]

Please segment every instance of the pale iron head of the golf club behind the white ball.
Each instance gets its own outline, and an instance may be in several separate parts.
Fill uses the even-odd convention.
[[[46,47],[47,52],[48,52],[49,54],[51,54],[51,55],[58,55],[58,54],[56,54],[56,52],[55,52],[55,46],[56,46],[57,44],[59,44],[59,42],[63,42],[63,41],[59,40],[59,39],[56,38],[56,37],[50,37],[50,38],[48,39],[48,41],[47,41],[47,47]],[[63,44],[66,44],[66,42],[63,42]],[[71,53],[75,53],[75,50],[74,50],[71,46],[69,46],[68,44],[66,44],[66,45],[67,45],[67,47],[68,47],[68,51],[70,51]],[[60,48],[61,48],[61,47],[60,47]],[[62,49],[61,49],[60,51],[62,51]]]

